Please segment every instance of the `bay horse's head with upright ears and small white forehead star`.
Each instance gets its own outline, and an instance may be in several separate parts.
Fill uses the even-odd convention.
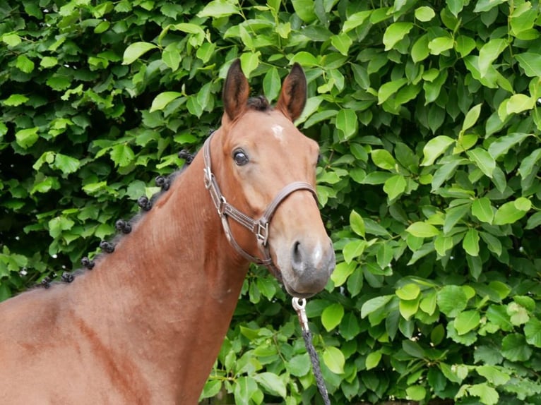
[[[249,97],[248,81],[234,61],[223,90],[222,126],[212,142],[220,184],[213,199],[218,211],[225,211],[230,242],[245,258],[274,270],[287,292],[299,298],[321,291],[335,267],[314,191],[319,146],[294,124],[306,99],[307,80],[298,64],[271,107],[263,96]],[[220,208],[226,201],[234,208]],[[246,225],[244,217],[259,220]]]

